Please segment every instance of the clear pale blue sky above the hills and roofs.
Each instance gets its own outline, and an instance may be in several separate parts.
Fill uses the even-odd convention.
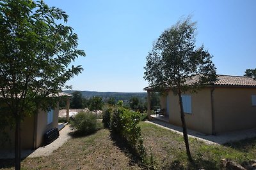
[[[68,25],[86,52],[73,90],[143,92],[145,57],[181,17],[197,22],[196,45],[213,55],[218,74],[243,76],[256,67],[256,1],[45,0],[69,15]]]

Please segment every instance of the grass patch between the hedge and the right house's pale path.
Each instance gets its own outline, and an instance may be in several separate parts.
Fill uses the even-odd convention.
[[[186,148],[182,136],[153,124],[140,123],[147,150],[152,152],[159,169],[220,169],[221,159],[230,159],[239,164],[256,159],[256,138],[246,139],[225,146],[206,145],[202,141],[189,138],[191,154],[196,166],[192,166],[186,157]]]

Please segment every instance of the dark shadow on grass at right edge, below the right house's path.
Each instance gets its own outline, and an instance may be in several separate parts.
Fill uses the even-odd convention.
[[[255,146],[256,138],[243,139],[232,143],[225,143],[224,146],[228,146],[241,152],[250,152],[253,146]]]

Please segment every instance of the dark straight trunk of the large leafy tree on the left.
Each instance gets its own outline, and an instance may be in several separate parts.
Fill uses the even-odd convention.
[[[15,169],[20,169],[20,118],[15,122]]]

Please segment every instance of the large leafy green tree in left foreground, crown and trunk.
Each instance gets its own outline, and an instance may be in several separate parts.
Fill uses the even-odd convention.
[[[77,50],[72,27],[61,24],[67,18],[44,1],[0,2],[0,117],[15,126],[15,169],[20,169],[22,120],[38,108],[56,106],[66,81],[83,71],[69,66],[85,53]]]

